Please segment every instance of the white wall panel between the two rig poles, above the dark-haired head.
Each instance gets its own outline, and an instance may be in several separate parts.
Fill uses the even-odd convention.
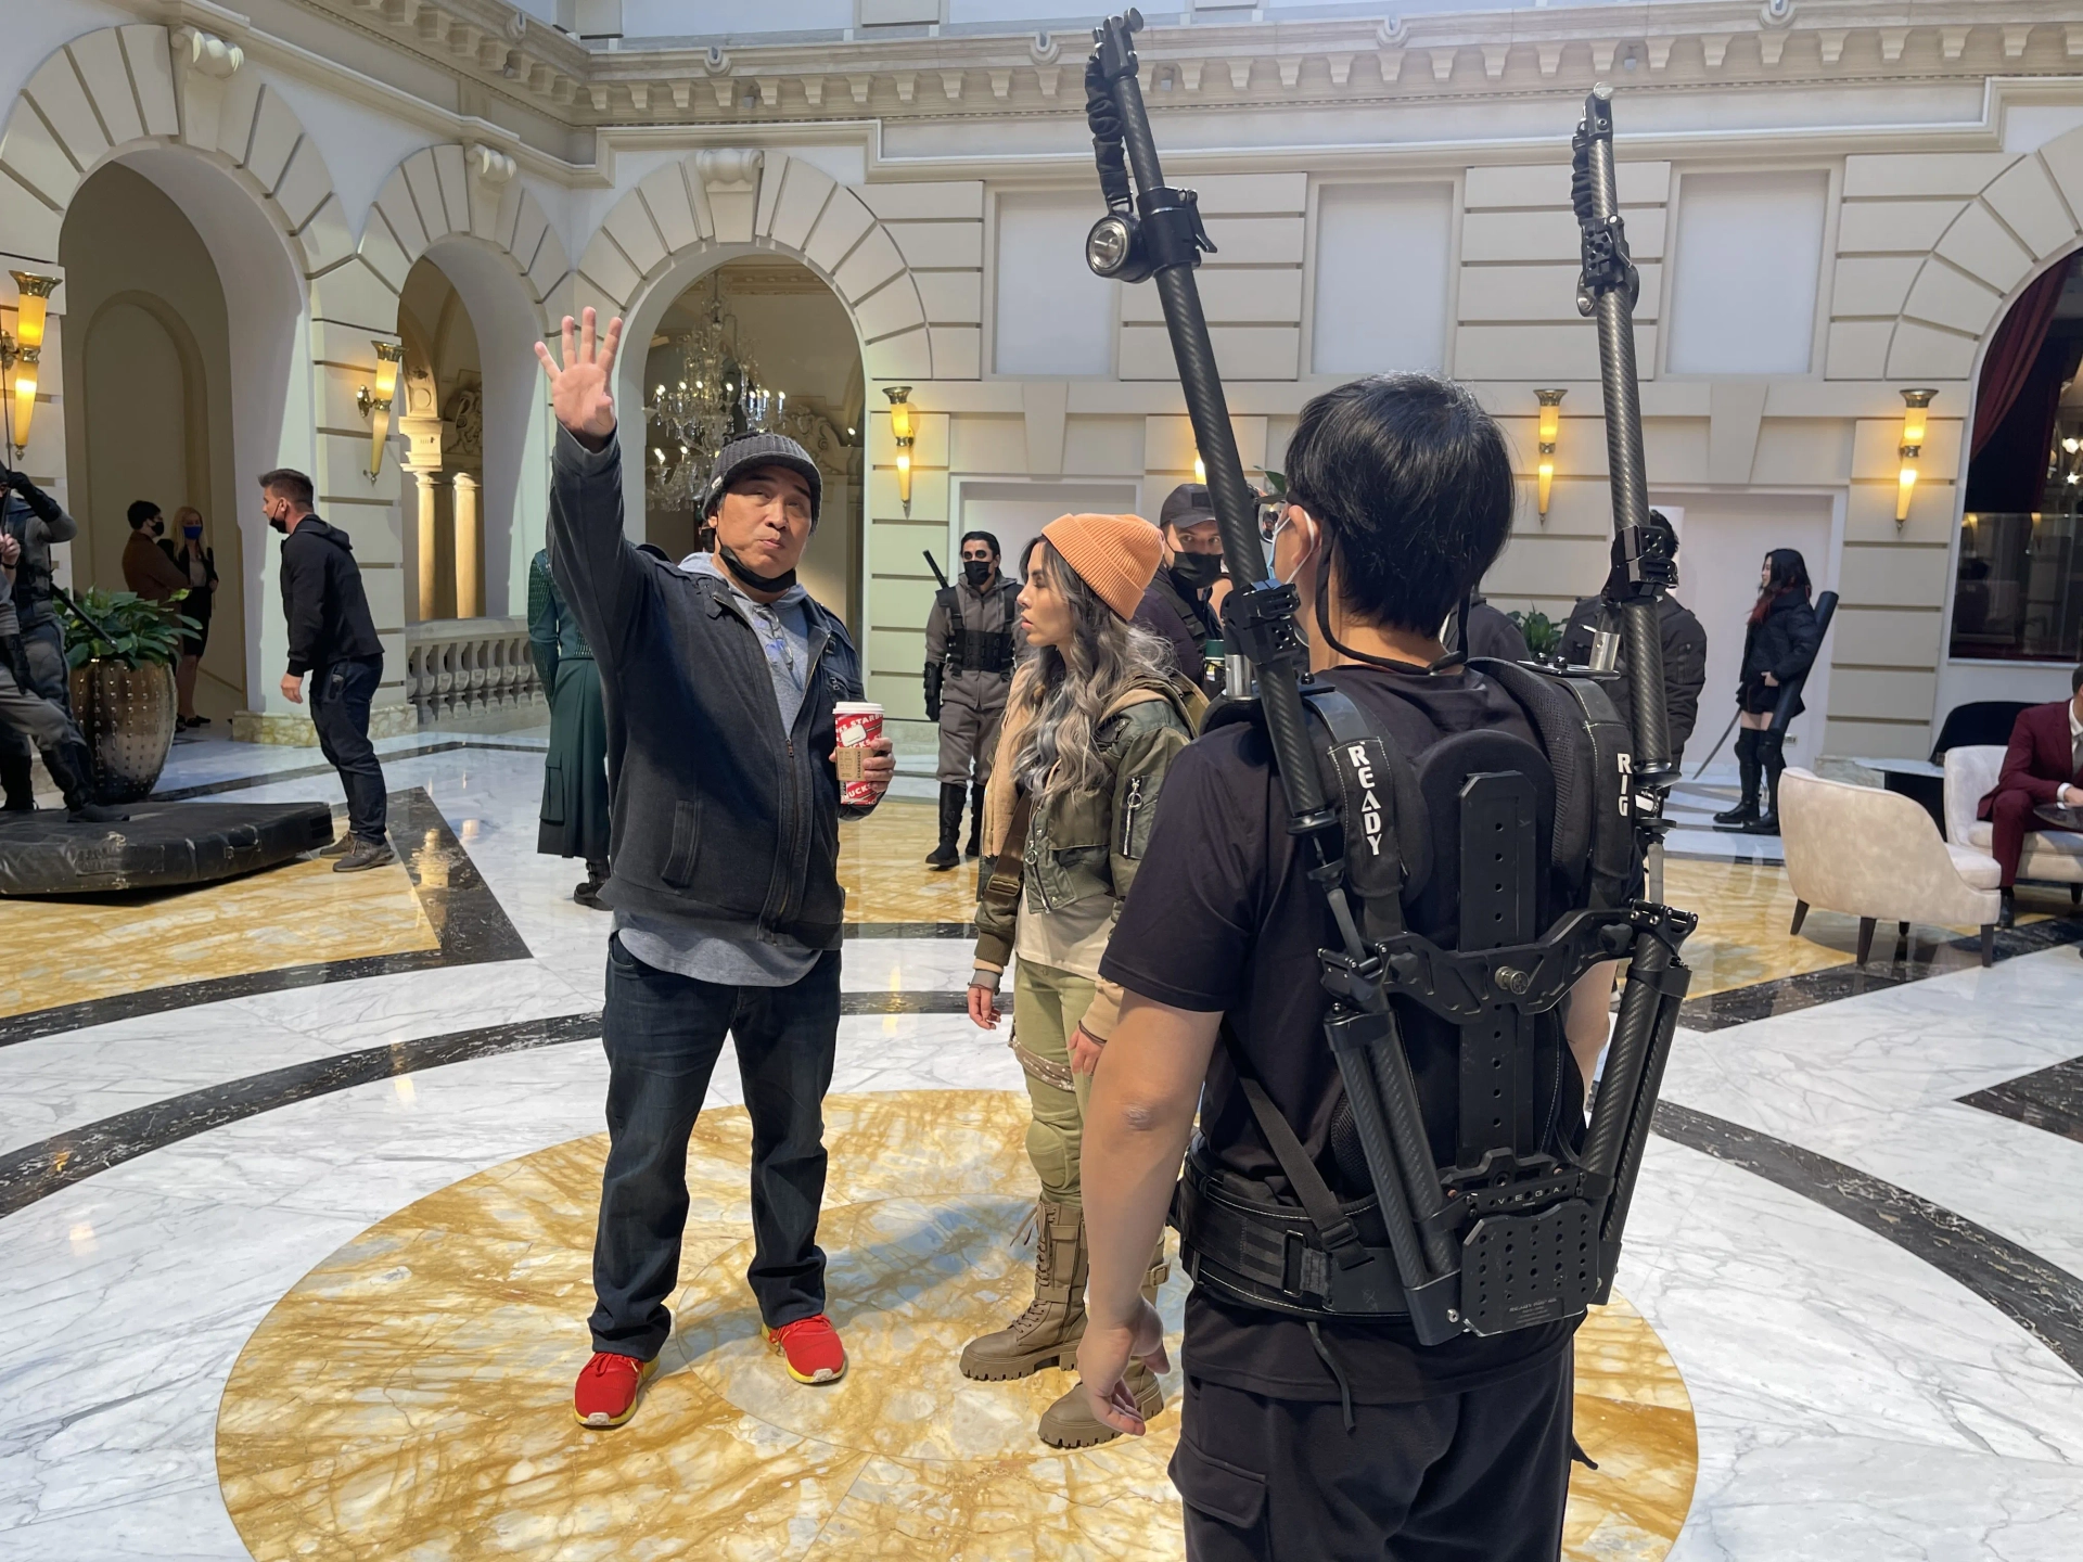
[[[1310,369],[1446,369],[1452,185],[1325,185],[1316,194]]]

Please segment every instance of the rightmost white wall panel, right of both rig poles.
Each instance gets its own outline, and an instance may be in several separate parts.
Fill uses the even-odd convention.
[[[1827,196],[1821,171],[1685,175],[1671,373],[1808,373]]]

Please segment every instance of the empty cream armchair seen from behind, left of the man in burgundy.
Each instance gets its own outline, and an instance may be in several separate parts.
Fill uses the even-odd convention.
[[[1950,775],[1948,775],[1950,779]],[[1916,802],[1879,787],[1779,777],[1779,839],[1793,883],[1793,933],[1810,906],[1858,918],[1858,962],[1873,954],[1877,921],[1981,927],[1981,962],[1996,954],[1996,858],[1939,839]]]

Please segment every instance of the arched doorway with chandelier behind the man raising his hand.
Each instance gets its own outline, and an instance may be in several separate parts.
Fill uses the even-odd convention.
[[[644,356],[644,539],[683,558],[714,450],[748,429],[802,444],[823,475],[804,587],[860,633],[862,400],[854,323],[808,267],[750,254],[689,283]]]

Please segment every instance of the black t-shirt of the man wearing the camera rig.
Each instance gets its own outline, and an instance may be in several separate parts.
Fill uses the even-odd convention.
[[[1327,681],[1381,721],[1412,760],[1464,731],[1535,741],[1519,704],[1466,669],[1421,675],[1348,666]],[[1287,835],[1287,802],[1264,733],[1233,725],[1200,737],[1164,777],[1150,850],[1100,973],[1173,1008],[1225,1012],[1258,1083],[1325,1179],[1339,1187],[1329,1139],[1344,1089],[1323,1037],[1331,1000],[1316,962],[1316,950],[1335,941],[1323,891],[1304,877]],[[1408,1031],[1406,1045],[1435,1152],[1452,1154],[1452,1135],[1439,1143],[1439,1123],[1452,1123],[1454,1104],[1441,1100],[1437,1083],[1454,1077],[1452,1058],[1421,1056]],[[1581,1120],[1581,1079],[1575,1066],[1564,1073],[1558,1110],[1575,1108]],[[1223,1048],[1208,1066],[1200,1139],[1196,1154],[1221,1168],[1285,1187]],[[1319,1320],[1362,1404],[1408,1404],[1496,1383],[1548,1362],[1573,1331],[1575,1322],[1556,1322],[1419,1345],[1402,1320]],[[1279,1400],[1339,1397],[1306,1320],[1233,1308],[1204,1289],[1187,1298],[1185,1368]]]

